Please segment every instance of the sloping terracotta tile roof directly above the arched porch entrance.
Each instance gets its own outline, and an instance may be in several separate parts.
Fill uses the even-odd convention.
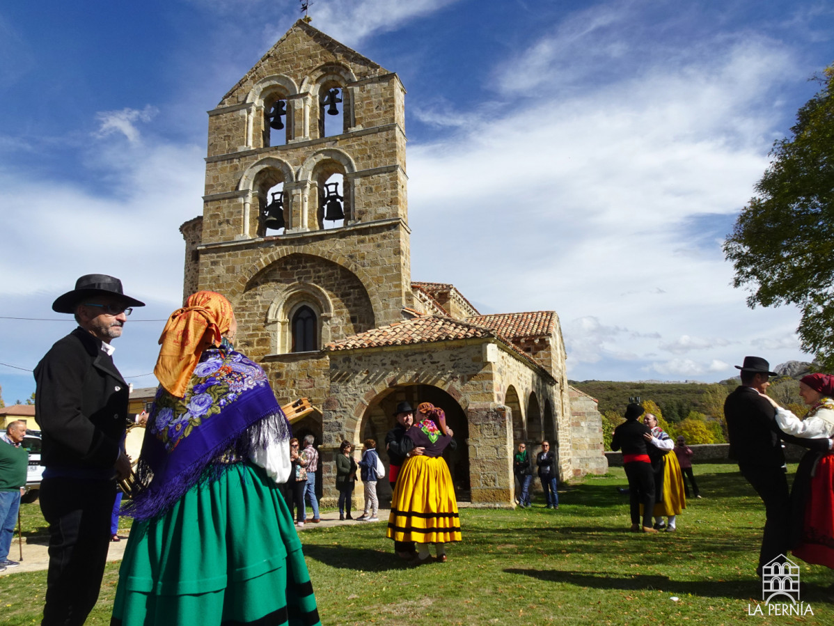
[[[495,332],[483,326],[444,316],[420,316],[413,320],[398,321],[390,326],[373,328],[357,335],[333,341],[324,347],[327,351],[375,348],[379,346],[408,346],[432,341],[494,337]]]

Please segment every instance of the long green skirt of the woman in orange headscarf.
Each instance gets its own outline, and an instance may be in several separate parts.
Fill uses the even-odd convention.
[[[298,533],[266,472],[229,465],[134,522],[111,624],[320,624]]]

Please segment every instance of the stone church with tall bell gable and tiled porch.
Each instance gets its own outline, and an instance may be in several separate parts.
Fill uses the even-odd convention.
[[[445,409],[459,442],[446,460],[472,506],[513,506],[522,441],[550,440],[563,479],[605,472],[554,311],[481,315],[454,285],[411,280],[404,100],[396,73],[295,23],[208,112],[203,215],[180,228],[184,295],[226,295],[279,401],[312,401],[294,432],[316,437],[325,504],[339,444],[383,444],[404,400]],[[386,480],[378,491],[389,498]]]

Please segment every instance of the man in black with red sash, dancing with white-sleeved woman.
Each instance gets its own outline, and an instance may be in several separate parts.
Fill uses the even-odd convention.
[[[621,448],[623,451],[623,468],[629,488],[631,532],[640,533],[642,529],[643,533],[656,533],[651,523],[651,512],[655,505],[655,474],[651,470],[651,460],[646,451],[646,435],[651,436],[651,428],[637,419],[643,411],[643,407],[636,402],[625,407],[625,422],[614,429],[611,450],[616,452]]]

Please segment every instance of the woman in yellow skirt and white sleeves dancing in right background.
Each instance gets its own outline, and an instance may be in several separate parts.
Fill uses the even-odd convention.
[[[668,433],[657,425],[656,416],[646,413],[643,423],[651,428],[651,435],[646,434],[646,451],[651,458],[651,465],[655,470],[655,528],[666,528],[674,533],[677,529],[676,516],[686,508],[686,493],[683,482],[683,472],[677,457],[671,452],[675,442]],[[651,444],[651,445],[649,445]],[[663,517],[669,520],[663,523]]]

